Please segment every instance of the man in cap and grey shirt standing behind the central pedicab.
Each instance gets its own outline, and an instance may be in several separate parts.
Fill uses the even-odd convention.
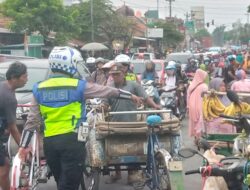
[[[119,88],[121,90],[128,91],[130,93],[133,93],[137,95],[138,97],[142,97],[144,102],[149,105],[150,107],[154,109],[160,109],[160,106],[155,104],[154,101],[147,96],[145,91],[143,90],[142,86],[140,84],[136,83],[135,81],[127,81],[124,71],[124,66],[120,63],[114,64],[109,74],[113,78],[113,82],[110,83],[109,86]],[[109,105],[111,108],[111,111],[135,111],[137,110],[137,105],[133,103],[132,101],[124,101],[124,100],[118,100],[117,98],[107,98],[103,100],[103,103],[105,105]],[[114,115],[110,119],[110,121],[116,121],[116,122],[133,122],[137,121],[137,115],[136,114],[123,114],[123,115]],[[138,175],[136,168],[130,168],[128,172],[128,184],[132,184],[133,182],[136,182],[139,180],[140,175]],[[119,166],[116,167],[116,174],[111,176],[110,181],[107,181],[107,183],[115,182],[116,180],[121,179],[121,172],[119,169]]]

